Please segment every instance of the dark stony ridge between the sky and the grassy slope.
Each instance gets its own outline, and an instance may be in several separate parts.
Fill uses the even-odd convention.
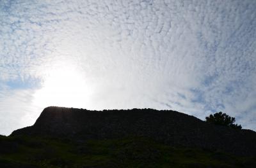
[[[69,137],[77,141],[136,136],[171,146],[256,156],[256,132],[213,125],[171,110],[48,107],[33,126],[15,130],[13,136]]]

